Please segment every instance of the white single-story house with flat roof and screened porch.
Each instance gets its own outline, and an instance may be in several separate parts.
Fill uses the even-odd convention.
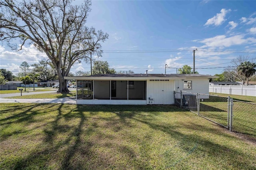
[[[174,91],[209,94],[211,75],[101,74],[74,79],[76,103],[88,105],[174,104]]]

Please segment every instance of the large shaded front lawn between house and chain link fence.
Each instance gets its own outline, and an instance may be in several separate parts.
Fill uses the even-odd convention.
[[[1,169],[256,169],[256,142],[175,106],[1,104]]]

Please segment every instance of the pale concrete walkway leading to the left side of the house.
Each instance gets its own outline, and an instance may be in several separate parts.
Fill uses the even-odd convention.
[[[74,98],[59,98],[59,99],[4,99],[0,98],[0,103],[66,103],[76,104]]]

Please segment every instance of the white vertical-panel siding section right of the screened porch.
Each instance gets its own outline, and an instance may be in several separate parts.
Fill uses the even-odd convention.
[[[149,98],[153,99],[152,103]],[[147,103],[148,104],[174,104],[174,80],[147,80]]]

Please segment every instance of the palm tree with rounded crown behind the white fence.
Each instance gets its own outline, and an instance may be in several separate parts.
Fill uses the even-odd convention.
[[[249,77],[254,75],[256,72],[255,68],[256,68],[256,63],[251,63],[250,61],[244,61],[237,67],[238,73],[246,77],[247,85],[248,85]]]

